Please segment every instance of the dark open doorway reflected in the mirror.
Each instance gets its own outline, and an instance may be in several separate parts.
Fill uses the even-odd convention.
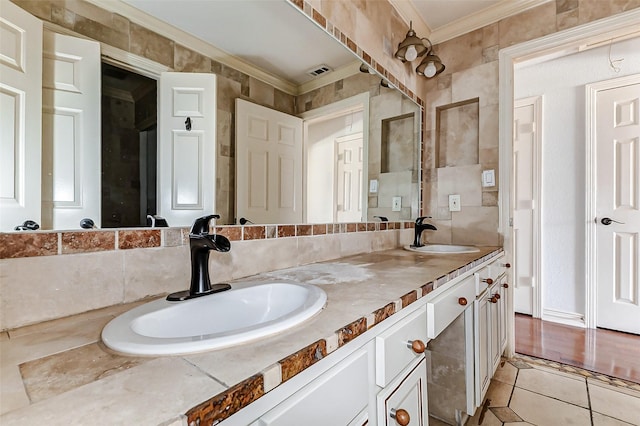
[[[157,81],[102,64],[102,228],[147,226],[155,215]]]

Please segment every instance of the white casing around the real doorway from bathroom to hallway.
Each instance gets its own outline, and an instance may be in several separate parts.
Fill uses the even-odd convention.
[[[499,227],[498,232],[503,236],[503,247],[506,260],[513,262],[513,235],[510,227],[511,214],[511,184],[513,182],[513,77],[514,66],[527,59],[539,58],[546,55],[556,57],[574,53],[585,44],[602,42],[616,38],[621,34],[637,31],[640,20],[640,9],[633,9],[625,13],[603,18],[578,27],[559,31],[535,40],[500,50],[498,57],[498,89],[499,89],[499,167],[500,192],[498,195]],[[511,279],[511,277],[509,278]],[[540,283],[542,285],[542,283]],[[508,299],[508,344],[507,356],[515,354],[515,317],[513,298]]]

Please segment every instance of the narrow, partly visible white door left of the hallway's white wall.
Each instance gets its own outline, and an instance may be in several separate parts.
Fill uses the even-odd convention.
[[[537,117],[540,98],[517,100],[513,123],[513,281],[514,309],[534,314],[537,260],[536,153],[539,144]],[[537,315],[540,316],[539,314]]]

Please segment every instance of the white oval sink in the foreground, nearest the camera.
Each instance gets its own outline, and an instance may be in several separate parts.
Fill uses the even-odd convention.
[[[267,282],[182,302],[155,300],[111,320],[102,340],[132,355],[177,355],[219,349],[278,333],[324,307],[318,287]]]

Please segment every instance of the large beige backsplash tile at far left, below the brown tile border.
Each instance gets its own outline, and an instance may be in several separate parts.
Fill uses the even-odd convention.
[[[122,302],[123,252],[0,261],[0,329]]]

